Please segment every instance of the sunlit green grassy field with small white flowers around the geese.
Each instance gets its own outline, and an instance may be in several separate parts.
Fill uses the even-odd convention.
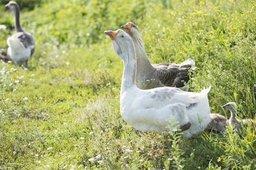
[[[256,132],[202,133],[172,146],[119,112],[122,61],[105,30],[137,24],[151,63],[196,62],[190,91],[212,85],[212,113],[256,113],[256,2],[19,0],[35,54],[0,62],[0,169],[256,169]],[[0,48],[14,31],[0,1]],[[12,32],[13,33],[13,32]]]

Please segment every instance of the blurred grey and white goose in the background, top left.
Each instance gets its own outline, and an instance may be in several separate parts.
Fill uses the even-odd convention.
[[[27,65],[29,57],[35,51],[35,42],[30,33],[24,31],[20,26],[20,6],[10,1],[6,4],[14,15],[15,34],[7,39],[9,46],[7,53],[17,65]]]

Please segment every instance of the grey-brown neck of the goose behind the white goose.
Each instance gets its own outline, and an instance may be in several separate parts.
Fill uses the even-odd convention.
[[[132,40],[134,42],[135,50],[136,50],[136,57],[137,57],[137,74],[140,74],[140,72],[150,72],[154,70],[154,67],[150,64],[148,57],[145,53],[145,48],[142,42],[142,39],[140,37],[140,34],[137,34],[136,37],[132,37]]]

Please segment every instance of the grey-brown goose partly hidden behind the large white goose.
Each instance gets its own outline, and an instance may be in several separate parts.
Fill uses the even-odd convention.
[[[188,91],[185,87],[189,82],[189,70],[194,70],[195,62],[188,59],[180,64],[160,63],[150,64],[145,53],[144,45],[134,23],[128,22],[121,26],[127,34],[132,38],[136,49],[137,57],[137,76],[136,83],[140,89],[150,89],[158,87],[177,87],[183,91]]]

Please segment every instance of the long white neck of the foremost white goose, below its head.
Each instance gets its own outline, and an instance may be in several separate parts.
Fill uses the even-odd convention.
[[[136,54],[135,51],[130,49],[123,51],[122,59],[124,63],[124,71],[122,76],[122,85],[120,95],[122,95],[129,88],[136,87]]]

